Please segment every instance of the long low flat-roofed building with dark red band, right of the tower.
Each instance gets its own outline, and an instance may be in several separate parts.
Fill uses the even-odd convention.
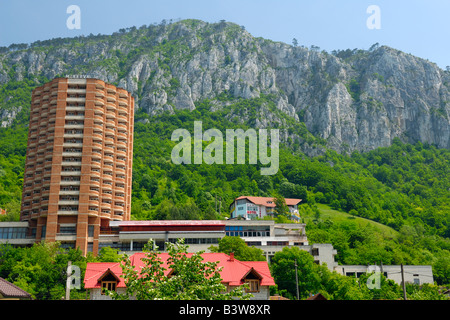
[[[141,251],[153,239],[159,250],[166,242],[184,239],[190,252],[208,251],[225,236],[239,236],[248,245],[263,249],[269,259],[285,246],[307,246],[305,224],[279,224],[273,220],[148,220],[111,221],[102,227],[99,247]]]

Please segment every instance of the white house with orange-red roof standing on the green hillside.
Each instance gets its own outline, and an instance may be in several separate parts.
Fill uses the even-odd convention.
[[[297,206],[302,199],[286,198],[285,201],[293,219],[300,219]],[[275,207],[275,198],[273,197],[241,196],[234,199],[233,203],[230,205],[231,218],[263,218],[267,215],[273,215]]]

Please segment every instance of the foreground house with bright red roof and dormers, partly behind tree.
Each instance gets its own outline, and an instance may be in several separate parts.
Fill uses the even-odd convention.
[[[192,253],[188,253],[191,256]],[[135,253],[130,257],[133,266],[139,268],[144,266],[141,260],[145,253]],[[165,275],[171,270],[167,268],[168,253],[159,253],[160,259],[164,262],[162,267],[168,269]],[[270,297],[269,286],[275,285],[275,281],[270,275],[269,265],[266,261],[239,261],[233,256],[225,253],[203,253],[203,262],[218,262],[217,267],[222,267],[220,276],[222,283],[230,287],[249,284],[248,292],[253,294],[255,300],[268,300]],[[84,277],[84,287],[90,291],[91,300],[108,300],[110,297],[102,294],[102,288],[116,290],[119,293],[125,292],[125,283],[121,278],[122,268],[120,262],[91,262],[87,264]]]

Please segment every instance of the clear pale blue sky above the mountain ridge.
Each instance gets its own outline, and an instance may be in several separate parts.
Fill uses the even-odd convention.
[[[70,30],[69,5],[81,9],[81,29]],[[366,25],[370,5],[380,29]],[[450,65],[450,0],[0,0],[0,46],[81,34],[111,34],[162,19],[221,19],[257,37],[335,49],[368,49],[378,42]]]

